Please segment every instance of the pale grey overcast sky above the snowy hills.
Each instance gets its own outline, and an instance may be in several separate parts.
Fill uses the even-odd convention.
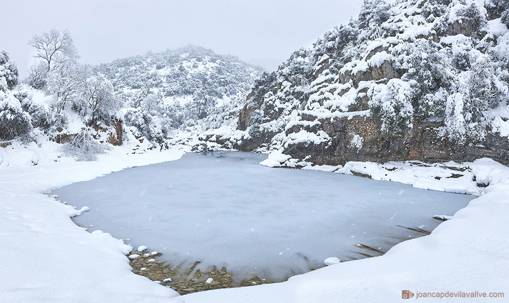
[[[285,60],[335,26],[357,18],[352,0],[1,0],[0,49],[22,77],[33,62],[30,38],[68,29],[81,63],[160,52],[188,44],[243,60]]]

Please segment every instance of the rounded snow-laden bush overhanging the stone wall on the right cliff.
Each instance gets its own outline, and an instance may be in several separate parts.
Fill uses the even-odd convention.
[[[414,108],[412,88],[400,79],[390,79],[387,85],[373,87],[369,107],[371,115],[380,122],[387,135],[402,137],[412,128]]]

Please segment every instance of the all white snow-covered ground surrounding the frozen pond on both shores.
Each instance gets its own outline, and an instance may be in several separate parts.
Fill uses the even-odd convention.
[[[470,168],[468,173],[477,183],[489,186],[478,189],[479,198],[429,236],[405,241],[380,257],[333,264],[279,284],[178,296],[131,273],[124,256],[130,247],[109,234],[91,234],[77,227],[69,217],[80,210],[42,193],[112,171],[178,159],[188,148],[133,155],[129,149],[117,147],[89,163],[66,158],[55,161],[57,155],[51,152],[55,148],[47,144],[43,148],[14,144],[0,150],[2,302],[393,302],[401,299],[403,290],[416,296],[509,293],[509,168],[490,159],[463,165]],[[454,185],[435,166],[403,163],[394,169],[350,163],[345,168],[353,171],[354,166],[374,178],[383,171],[382,176],[404,179],[415,187],[421,180],[427,186],[442,184],[448,191],[472,189],[472,179],[459,177]],[[433,170],[442,175],[440,180],[433,178]]]

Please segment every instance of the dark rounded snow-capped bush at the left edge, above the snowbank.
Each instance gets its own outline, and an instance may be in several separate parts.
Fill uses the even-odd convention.
[[[23,111],[19,100],[12,95],[0,96],[0,140],[11,140],[31,130],[30,115]]]

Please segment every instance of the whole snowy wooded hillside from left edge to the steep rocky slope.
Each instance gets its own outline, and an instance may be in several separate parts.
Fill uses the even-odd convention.
[[[46,63],[35,63],[20,84],[15,63],[2,52],[3,146],[49,139],[73,145],[68,155],[94,159],[86,154],[104,152],[110,144],[127,144],[135,152],[176,142],[193,145],[188,138],[204,130],[236,126],[246,95],[263,71],[235,56],[190,45],[99,66],[81,65],[76,57],[64,57],[62,66],[51,71]]]

